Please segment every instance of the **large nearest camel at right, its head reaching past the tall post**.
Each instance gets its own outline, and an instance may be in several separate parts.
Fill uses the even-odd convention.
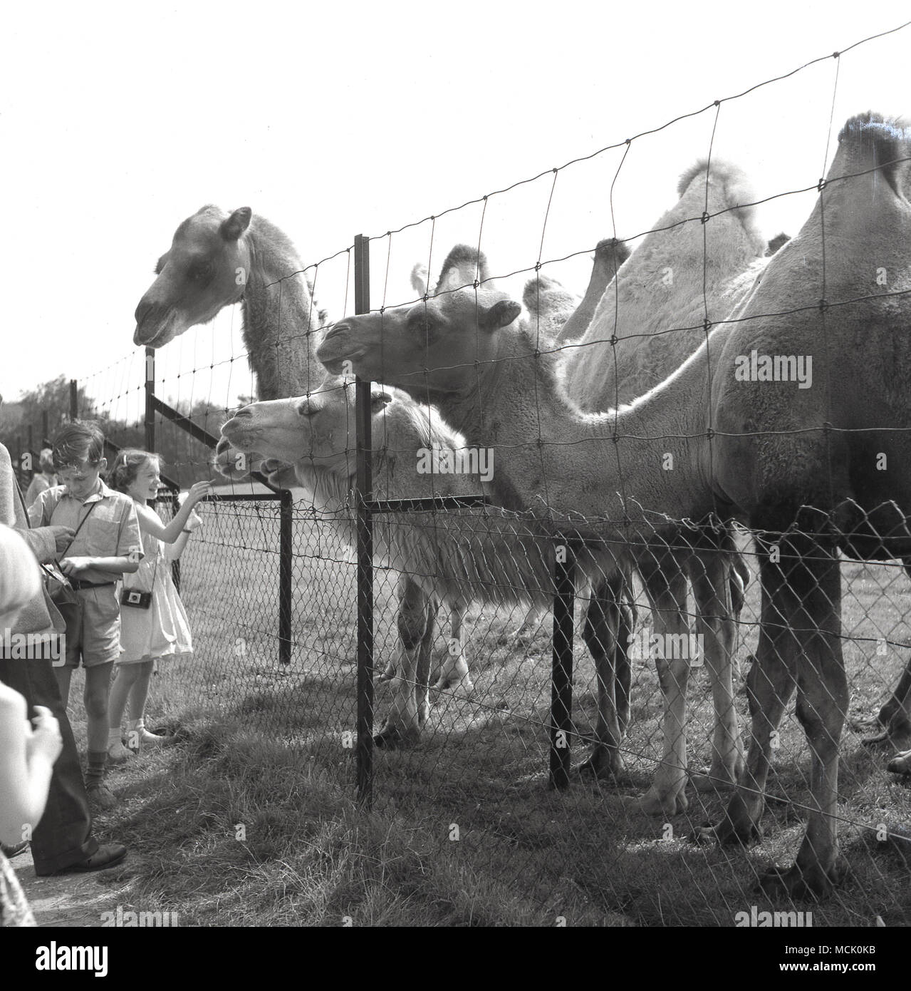
[[[679,520],[702,522],[694,546],[716,541],[716,519],[759,534],[751,745],[712,834],[758,838],[771,734],[796,688],[813,802],[795,862],[762,878],[770,895],[826,897],[846,870],[836,819],[848,704],[837,552],[911,553],[909,159],[911,131],[899,122],[849,120],[800,233],[676,372],[607,413],[578,409],[555,356],[518,321],[521,306],[483,286],[348,318],[317,351],[331,371],[348,359],[361,378],[430,397],[469,438],[495,423],[494,487],[557,535],[661,554],[662,532],[677,539]],[[777,376],[754,367],[759,354],[778,357]],[[672,472],[662,469],[669,448]],[[887,472],[876,470],[883,457]],[[685,688],[685,667],[670,674]]]

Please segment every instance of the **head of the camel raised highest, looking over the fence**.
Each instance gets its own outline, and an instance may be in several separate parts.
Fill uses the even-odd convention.
[[[252,263],[245,237],[252,215],[249,206],[228,214],[209,205],[183,221],[136,308],[134,344],[163,347],[243,297]]]

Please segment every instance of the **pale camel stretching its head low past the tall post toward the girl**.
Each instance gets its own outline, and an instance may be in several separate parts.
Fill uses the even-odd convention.
[[[290,464],[298,483],[316,494],[323,517],[354,547],[354,389],[327,381],[318,392],[254,402],[224,424],[231,448],[253,458]],[[374,492],[376,497],[469,495],[479,488],[470,475],[421,470],[417,452],[451,456],[464,441],[428,407],[394,389],[371,391]],[[383,567],[410,577],[425,598],[440,600],[461,615],[471,602],[494,606],[550,605],[555,595],[555,545],[526,529],[515,514],[496,506],[482,511],[408,512],[374,521],[373,553]],[[580,560],[580,576],[599,576],[597,554]],[[406,598],[405,603],[409,600]],[[460,631],[451,650],[468,681]],[[414,743],[428,714],[428,670],[414,643],[400,640],[390,712],[374,740],[379,745]],[[468,682],[470,686],[470,682]]]

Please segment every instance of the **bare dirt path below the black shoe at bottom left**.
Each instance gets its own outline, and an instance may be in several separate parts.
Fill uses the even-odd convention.
[[[14,857],[12,864],[39,926],[101,927],[102,913],[116,912],[118,905],[124,911],[132,909],[135,855],[110,870],[52,877],[35,874],[31,848]]]

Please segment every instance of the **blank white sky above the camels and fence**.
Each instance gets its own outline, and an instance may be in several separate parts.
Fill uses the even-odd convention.
[[[613,4],[388,0],[8,5],[0,56],[6,316],[0,393],[59,374],[139,415],[133,312],[177,224],[204,203],[248,205],[305,264],[657,127],[911,16],[907,3]],[[843,55],[832,128],[867,109],[911,111],[911,28]],[[722,105],[714,155],[758,196],[825,172],[836,61]],[[634,142],[614,190],[617,233],[648,228],[679,173],[708,150],[714,112]],[[543,259],[612,233],[620,153],[557,177]],[[488,202],[493,273],[534,266],[553,176]],[[760,207],[768,236],[793,234],[814,193]],[[479,211],[440,221],[439,266],[477,242]],[[392,241],[386,301],[413,297],[431,227]],[[381,301],[388,243],[374,245]],[[588,256],[551,266],[577,291]],[[517,287],[521,292],[521,281]],[[317,297],[345,310],[345,266]],[[352,300],[349,299],[351,309]],[[251,392],[240,316],[224,312],[159,352],[160,391],[232,405]],[[218,365],[210,374],[209,366]],[[189,373],[196,366],[205,371]],[[90,373],[107,369],[89,379]],[[230,375],[229,375],[230,370]],[[177,374],[181,373],[180,378]]]

